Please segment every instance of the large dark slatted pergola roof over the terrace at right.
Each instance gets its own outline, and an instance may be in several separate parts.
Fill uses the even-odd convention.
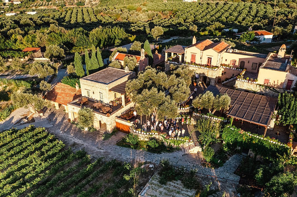
[[[264,136],[266,135],[267,127],[277,102],[276,98],[214,85],[208,86],[204,92],[206,91],[211,91],[214,96],[218,94],[228,94],[231,98],[231,107],[227,115],[265,127]]]

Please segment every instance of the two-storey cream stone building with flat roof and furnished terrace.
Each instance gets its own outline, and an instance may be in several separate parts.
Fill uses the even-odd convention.
[[[68,116],[71,121],[78,117],[82,107],[93,108],[94,101],[108,104],[121,98],[122,104],[113,106],[112,112],[104,113],[94,109],[94,128],[99,129],[105,123],[107,132],[116,127],[116,117],[134,106],[126,96],[126,82],[135,77],[135,72],[108,67],[80,79],[82,96],[88,99],[87,104],[80,105],[77,100],[68,103]]]

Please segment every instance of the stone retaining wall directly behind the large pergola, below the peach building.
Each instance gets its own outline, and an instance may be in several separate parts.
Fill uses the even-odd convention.
[[[277,98],[279,93],[283,93],[284,90],[280,88],[272,88],[260,84],[249,83],[244,81],[236,80],[235,89],[240,91],[249,91],[250,93],[263,93],[265,96]],[[278,91],[278,92],[277,92]]]

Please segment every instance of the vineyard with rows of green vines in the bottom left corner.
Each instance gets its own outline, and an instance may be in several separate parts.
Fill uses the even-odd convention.
[[[134,193],[135,175],[143,173],[127,163],[73,153],[44,128],[32,125],[0,133],[0,170],[0,197],[128,197]]]

